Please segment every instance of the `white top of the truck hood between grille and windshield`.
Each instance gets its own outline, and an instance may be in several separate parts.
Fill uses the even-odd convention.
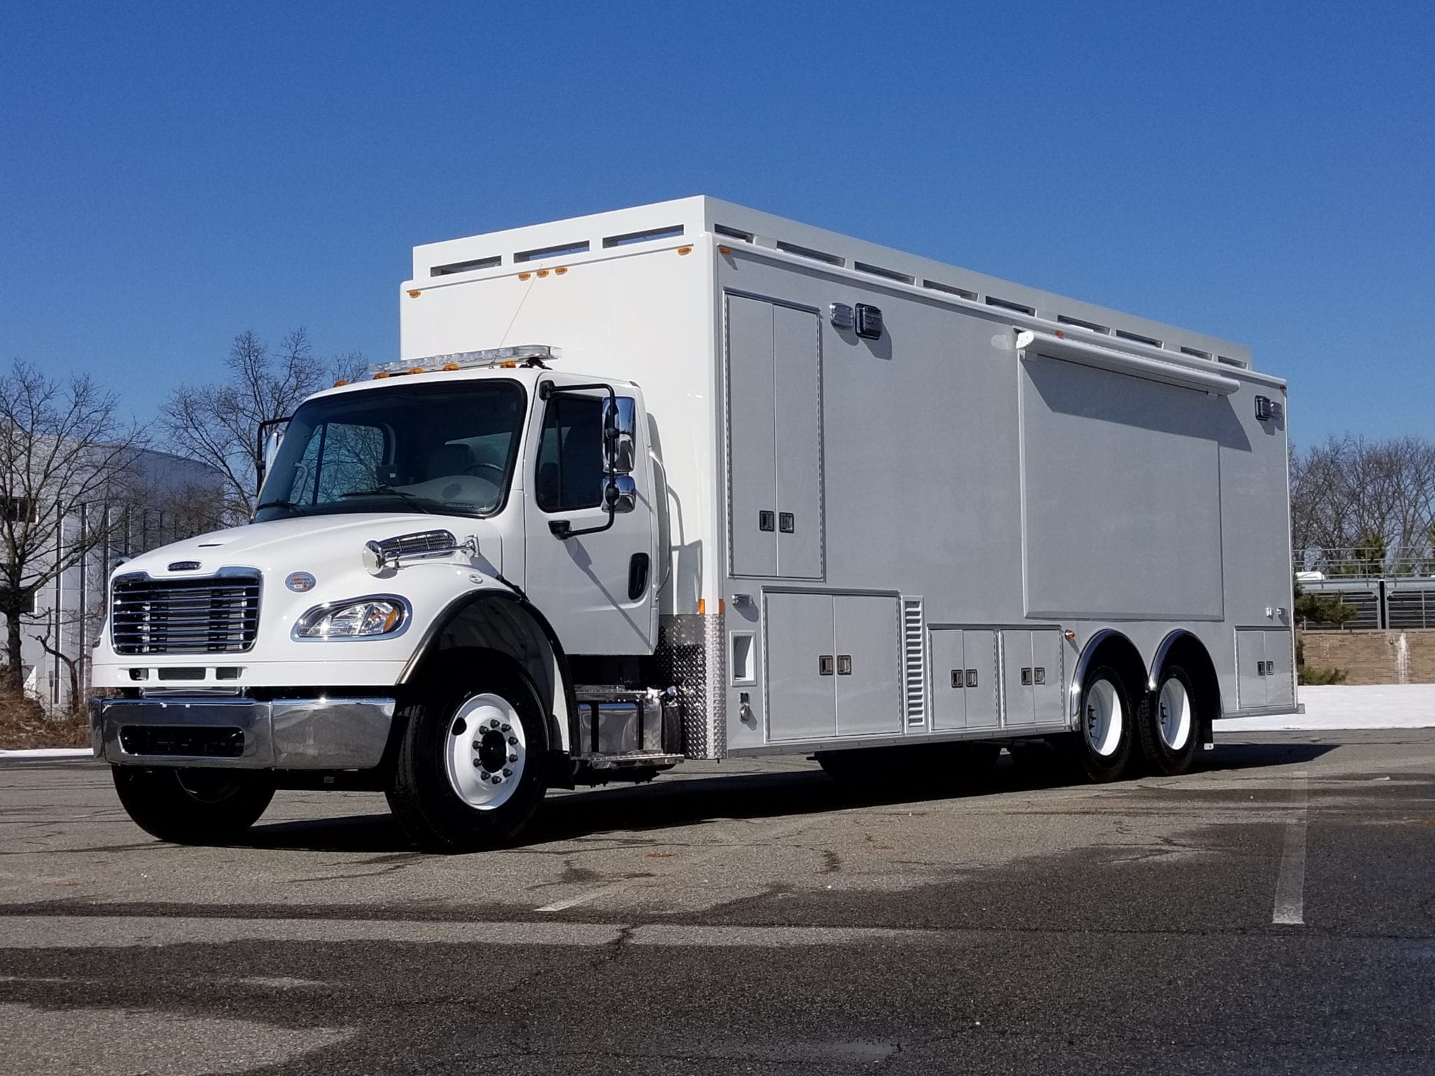
[[[481,558],[502,571],[498,531],[486,519],[359,512],[273,519],[202,534],[135,557],[121,565],[116,574],[145,571],[152,577],[212,575],[222,567],[313,572],[316,565],[329,567],[330,572],[336,568],[347,572],[359,567],[364,542],[435,529],[451,531],[459,541],[474,535]],[[171,567],[178,564],[184,567]]]

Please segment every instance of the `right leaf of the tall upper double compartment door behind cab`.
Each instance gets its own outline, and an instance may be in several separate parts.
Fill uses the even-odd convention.
[[[817,314],[772,308],[778,574],[822,578],[822,353]]]

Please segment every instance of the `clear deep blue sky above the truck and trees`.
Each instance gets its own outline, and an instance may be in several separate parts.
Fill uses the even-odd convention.
[[[148,417],[244,329],[390,357],[416,242],[713,194],[1247,343],[1297,442],[1435,436],[1431,11],[13,4],[0,362]]]

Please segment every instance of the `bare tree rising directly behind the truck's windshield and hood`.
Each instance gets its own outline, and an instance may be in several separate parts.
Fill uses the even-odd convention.
[[[277,349],[254,333],[240,333],[225,359],[228,376],[222,382],[181,386],[164,402],[159,422],[165,440],[174,452],[224,475],[224,521],[243,522],[254,514],[258,492],[260,425],[288,417],[306,396],[336,379],[356,377],[366,362],[357,351],[316,360],[303,329],[288,333]]]

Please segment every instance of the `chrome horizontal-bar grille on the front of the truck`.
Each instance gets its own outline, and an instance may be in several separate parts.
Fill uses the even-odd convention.
[[[258,627],[258,572],[115,580],[109,630],[116,654],[232,654],[254,646]]]

